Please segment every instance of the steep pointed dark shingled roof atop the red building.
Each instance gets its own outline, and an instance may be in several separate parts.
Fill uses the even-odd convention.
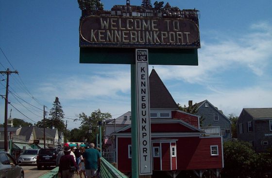
[[[178,105],[154,69],[149,75],[149,87],[150,108],[178,109]]]

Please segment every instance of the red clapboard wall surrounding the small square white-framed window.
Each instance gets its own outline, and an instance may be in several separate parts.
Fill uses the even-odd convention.
[[[211,145],[218,145],[218,156],[211,156]],[[222,168],[221,138],[181,137],[177,158],[178,170]]]

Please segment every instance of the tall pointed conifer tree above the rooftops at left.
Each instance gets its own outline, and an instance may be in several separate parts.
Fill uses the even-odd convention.
[[[63,121],[64,113],[58,97],[55,98],[53,107],[50,109],[49,116],[51,117],[47,120],[46,125],[49,125],[50,128],[54,126],[59,131],[63,132],[65,130],[65,124]]]

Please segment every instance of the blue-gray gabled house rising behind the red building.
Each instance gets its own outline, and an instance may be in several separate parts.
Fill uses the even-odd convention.
[[[208,100],[197,103],[196,115],[201,116],[201,128],[211,133],[219,132],[223,141],[231,139],[231,121]]]

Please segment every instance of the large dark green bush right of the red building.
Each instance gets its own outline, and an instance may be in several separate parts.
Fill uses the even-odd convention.
[[[272,159],[269,153],[255,153],[248,142],[228,141],[223,145],[223,178],[261,178],[271,171]]]

